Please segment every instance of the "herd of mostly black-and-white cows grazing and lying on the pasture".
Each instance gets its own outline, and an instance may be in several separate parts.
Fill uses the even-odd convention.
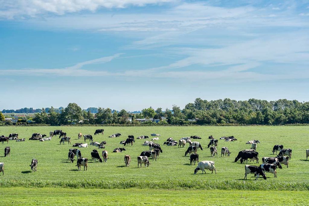
[[[97,129],[95,130],[94,135],[97,134],[104,134],[104,129]],[[55,130],[49,132],[49,137],[45,134],[40,134],[40,133],[33,133],[32,137],[29,138],[29,140],[38,140],[38,141],[50,141],[52,138],[55,136],[59,136],[60,139],[60,145],[64,144],[65,142],[68,142],[68,144],[71,144],[71,137],[66,136],[66,132],[63,132],[62,130]],[[115,138],[115,137],[120,137],[121,133],[116,133],[112,134],[109,137]],[[150,165],[149,158],[152,158],[152,160],[157,161],[159,158],[160,153],[163,153],[163,150],[161,146],[158,143],[155,143],[154,141],[159,140],[160,135],[159,134],[151,134],[153,138],[151,141],[145,141],[142,145],[148,146],[149,150],[143,151],[140,156],[137,157],[137,162],[138,162],[138,167],[142,167],[144,165],[145,167],[148,167]],[[88,143],[86,143],[87,140],[89,140],[90,144],[98,147],[99,149],[104,149],[106,145],[106,141],[102,141],[101,143],[99,142],[94,142],[93,137],[90,134],[83,135],[82,133],[78,133],[78,139],[81,140],[83,138],[83,142],[79,143],[74,143],[72,147],[77,147],[77,148],[85,148],[88,147]],[[207,148],[210,148],[210,155],[211,157],[214,157],[217,155],[218,157],[218,140],[216,140],[213,136],[208,137],[210,139],[209,144],[207,145]],[[148,136],[139,136],[136,139],[149,139]],[[198,141],[192,141],[193,139],[201,139],[199,136],[191,136],[191,137],[183,137],[180,138],[179,141],[173,140],[173,138],[168,138],[167,141],[164,142],[163,145],[167,146],[177,146],[184,148],[187,144],[189,144],[188,149],[185,151],[184,156],[187,156],[188,154],[190,155],[190,164],[194,165],[197,163],[197,167],[194,170],[194,174],[197,174],[198,170],[202,170],[202,174],[206,171],[205,170],[210,170],[213,173],[217,173],[217,170],[215,168],[215,163],[214,161],[201,161],[199,162],[199,155],[198,155],[198,150],[201,149],[203,150],[202,145]],[[233,136],[230,137],[221,137],[220,140],[224,141],[237,141],[237,139]],[[5,137],[4,135],[0,136],[0,142],[4,144],[4,142],[9,142],[9,141],[25,141],[25,138],[19,139],[17,133],[11,133],[9,134],[8,137]],[[135,143],[135,138],[133,135],[129,135],[128,138],[124,141],[120,141],[120,144],[123,144],[124,146],[126,145],[131,145]],[[234,162],[237,162],[238,160],[242,164],[243,162],[246,161],[246,164],[248,163],[248,159],[250,159],[250,162],[256,161],[256,163],[259,163],[259,153],[256,151],[257,144],[259,144],[259,140],[252,140],[248,141],[246,144],[250,144],[251,148],[250,149],[245,149],[242,151],[239,151],[237,157],[235,158]],[[112,152],[115,153],[120,153],[125,151],[126,149],[124,147],[120,148],[117,147],[115,148]],[[292,156],[292,149],[284,149],[283,145],[274,145],[273,154],[276,152],[276,157],[263,157],[262,158],[262,164],[260,166],[252,166],[252,165],[245,165],[245,177],[244,179],[247,179],[248,174],[254,174],[256,176],[256,180],[261,176],[264,179],[266,179],[265,173],[272,173],[274,177],[277,177],[277,168],[282,169],[281,164],[286,165],[289,167],[289,161]],[[277,154],[277,152],[279,152]],[[11,148],[10,147],[5,147],[4,149],[4,157],[10,157],[11,153]],[[221,148],[221,157],[224,156],[230,156],[231,152],[227,147],[222,147]],[[81,170],[82,166],[84,167],[84,170],[87,170],[88,166],[88,158],[84,158],[82,156],[81,150],[80,149],[69,149],[68,153],[68,161],[71,163],[74,162],[74,157],[77,157],[77,167],[78,170]],[[306,158],[308,159],[309,156],[309,149],[306,150]],[[93,149],[91,152],[91,160],[93,162],[107,162],[108,160],[108,151],[103,150],[102,151],[102,157],[100,156],[99,152],[97,149]],[[125,155],[124,157],[124,162],[125,166],[129,167],[130,162],[131,162],[131,157],[130,155]],[[31,161],[31,170],[32,172],[36,172],[38,160],[37,159],[32,159]],[[2,175],[4,175],[4,163],[0,162],[0,172],[2,172]]]

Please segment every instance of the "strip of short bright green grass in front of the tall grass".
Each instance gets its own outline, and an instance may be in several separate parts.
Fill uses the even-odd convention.
[[[2,205],[308,205],[308,191],[2,188]]]

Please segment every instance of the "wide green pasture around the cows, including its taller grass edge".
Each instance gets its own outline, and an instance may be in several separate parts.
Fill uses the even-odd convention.
[[[306,161],[306,149],[309,149],[307,126],[245,126],[245,127],[102,127],[104,136],[94,136],[96,127],[0,127],[0,135],[8,136],[10,133],[19,133],[19,138],[26,138],[25,142],[9,141],[8,144],[0,143],[0,162],[5,163],[5,174],[0,175],[2,187],[72,187],[72,188],[164,188],[164,189],[239,189],[239,190],[308,190],[309,189],[309,161]],[[49,134],[49,131],[62,129],[71,137],[72,144],[81,142],[78,140],[78,132],[92,134],[94,141],[107,141],[105,150],[109,152],[109,159],[105,163],[88,164],[87,171],[77,171],[76,160],[74,163],[67,162],[68,151],[72,148],[67,142],[59,145],[59,138],[53,137],[52,141],[29,141],[32,133]],[[121,133],[121,137],[108,138],[113,133]],[[159,133],[158,142],[163,153],[157,162],[150,160],[148,168],[137,168],[137,156],[147,146],[141,144],[145,140],[136,140],[133,146],[125,146],[123,153],[112,153],[116,147],[122,147],[119,142],[125,140],[128,135],[138,137]],[[199,173],[193,175],[196,166],[190,165],[189,157],[184,157],[188,148],[178,148],[163,145],[168,137],[179,140],[181,137],[191,135],[201,136],[204,150],[199,150],[200,161],[214,160],[218,174]],[[219,140],[219,157],[210,157],[208,136],[215,138],[233,135],[238,139],[235,142]],[[150,138],[151,139],[151,138]],[[277,178],[266,173],[268,179],[253,181],[253,175],[248,175],[244,181],[244,164],[234,163],[235,156],[240,150],[250,149],[251,145],[245,144],[249,140],[258,139],[261,144],[257,145],[261,163],[262,157],[273,157],[272,149],[276,144],[291,148],[292,159],[289,168],[283,165],[283,169],[277,169]],[[83,140],[82,140],[83,142]],[[89,141],[87,141],[89,144]],[[3,157],[6,146],[11,147],[11,157]],[[220,157],[221,147],[230,149],[231,157]],[[91,159],[92,149],[98,149],[89,145],[81,148],[83,157]],[[103,149],[98,149],[101,154]],[[131,156],[131,167],[124,167],[124,155]],[[36,173],[30,172],[31,159],[38,159]],[[75,158],[76,159],[76,158]],[[252,165],[260,165],[251,163]]]

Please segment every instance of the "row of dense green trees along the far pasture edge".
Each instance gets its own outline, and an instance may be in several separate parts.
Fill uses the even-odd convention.
[[[140,123],[136,120],[142,118],[159,119],[160,121],[159,123],[153,121]],[[183,109],[180,109],[177,105],[172,105],[171,109],[166,108],[164,111],[162,108],[149,107],[142,109],[138,114],[124,109],[116,111],[102,107],[89,107],[87,110],[82,110],[76,103],[69,103],[65,108],[55,109],[51,107],[48,111],[42,108],[41,111],[35,113],[32,120],[37,124],[50,125],[72,123],[136,125],[309,124],[309,102],[287,99],[237,101],[228,98],[208,101],[197,98],[193,103],[186,104]]]

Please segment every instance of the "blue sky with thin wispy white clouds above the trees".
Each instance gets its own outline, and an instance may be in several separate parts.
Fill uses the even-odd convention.
[[[0,0],[0,109],[309,100],[309,1]]]

